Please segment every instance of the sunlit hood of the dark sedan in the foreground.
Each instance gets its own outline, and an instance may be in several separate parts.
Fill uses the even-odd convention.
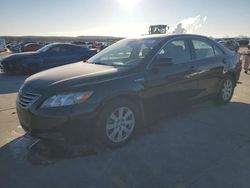
[[[115,79],[120,75],[119,72],[125,69],[78,62],[34,74],[26,79],[24,85],[36,90],[60,91],[93,82],[98,83],[106,79]]]

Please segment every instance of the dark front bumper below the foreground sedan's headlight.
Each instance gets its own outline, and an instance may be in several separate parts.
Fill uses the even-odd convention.
[[[67,142],[92,138],[97,113],[88,105],[25,109],[17,103],[16,109],[21,126],[33,137]]]

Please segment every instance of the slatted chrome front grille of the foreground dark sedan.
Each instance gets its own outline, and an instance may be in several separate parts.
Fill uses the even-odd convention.
[[[41,95],[36,93],[24,93],[18,95],[18,104],[20,104],[23,108],[29,108],[32,104],[34,104]]]

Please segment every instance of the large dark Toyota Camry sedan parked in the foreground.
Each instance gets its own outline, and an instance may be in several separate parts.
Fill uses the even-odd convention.
[[[17,113],[31,136],[126,143],[153,114],[212,98],[228,103],[240,56],[199,35],[123,39],[90,58],[29,77]]]

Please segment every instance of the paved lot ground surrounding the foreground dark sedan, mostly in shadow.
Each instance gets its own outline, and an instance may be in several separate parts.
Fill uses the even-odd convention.
[[[40,155],[23,136],[15,97],[25,76],[0,74],[0,184],[18,187],[249,188],[250,75],[230,104],[208,102],[162,118],[114,150]],[[153,124],[153,123],[152,123]]]

